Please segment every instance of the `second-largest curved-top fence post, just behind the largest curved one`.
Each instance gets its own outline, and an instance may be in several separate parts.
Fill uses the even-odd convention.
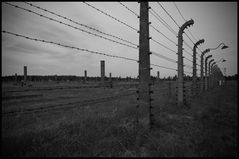
[[[204,39],[201,39],[193,46],[193,96],[196,95],[196,82],[197,82],[197,66],[196,66],[196,49],[199,44],[204,43]]]

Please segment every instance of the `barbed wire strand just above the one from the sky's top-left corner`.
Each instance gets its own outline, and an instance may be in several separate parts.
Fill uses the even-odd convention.
[[[70,18],[67,18],[67,17],[65,17],[65,16],[62,16],[62,15],[57,14],[57,13],[55,13],[55,12],[49,11],[49,10],[47,10],[47,9],[41,8],[41,7],[39,7],[39,6],[37,6],[37,5],[34,5],[34,4],[32,4],[32,3],[29,3],[29,2],[24,2],[24,3],[27,4],[27,5],[30,5],[30,6],[32,6],[32,7],[35,7],[35,8],[37,8],[37,9],[43,10],[43,11],[45,11],[45,12],[47,12],[47,13],[51,13],[51,14],[53,14],[53,15],[56,15],[56,16],[58,16],[58,17],[60,17],[60,18],[63,18],[63,19],[65,19],[65,20],[68,20],[68,21],[70,21],[70,22],[72,22],[72,23],[75,23],[75,24],[77,24],[77,25],[83,26],[83,27],[85,27],[85,28],[88,28],[88,29],[97,31],[97,32],[99,32],[99,33],[101,33],[101,34],[104,34],[104,35],[107,35],[107,36],[110,36],[110,37],[113,37],[113,38],[116,38],[116,39],[119,39],[119,40],[122,40],[122,41],[124,41],[124,42],[127,42],[127,43],[130,43],[130,44],[132,44],[132,45],[137,46],[136,44],[134,44],[134,43],[132,43],[132,42],[130,42],[130,41],[128,41],[128,40],[125,40],[125,39],[123,39],[123,38],[121,38],[121,37],[118,37],[118,36],[115,36],[115,35],[112,35],[112,34],[108,34],[108,33],[102,32],[102,31],[100,31],[100,30],[98,30],[98,29],[95,29],[95,28],[90,27],[90,26],[88,26],[88,25],[79,23],[79,22],[74,21],[74,20],[72,20],[72,19],[70,19]]]

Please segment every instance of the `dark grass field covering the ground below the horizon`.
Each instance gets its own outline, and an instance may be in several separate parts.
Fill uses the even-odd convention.
[[[125,84],[113,88],[33,90],[83,84],[39,82],[31,88],[21,88],[3,83],[2,113],[17,113],[2,115],[2,156],[238,156],[237,81],[227,81],[183,108],[175,105],[175,83],[171,93],[168,82],[155,83],[152,94],[155,124],[151,130],[135,123],[136,87]],[[126,95],[93,104],[81,103],[122,94]],[[26,111],[54,105],[62,106],[55,110]]]

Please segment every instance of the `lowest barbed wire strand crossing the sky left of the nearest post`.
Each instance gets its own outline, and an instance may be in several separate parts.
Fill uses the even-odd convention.
[[[125,59],[125,60],[130,60],[130,61],[138,62],[138,60],[131,59],[131,58],[128,58],[128,57],[116,56],[116,55],[106,54],[106,53],[92,51],[92,50],[88,50],[88,49],[82,49],[82,48],[78,48],[78,47],[74,47],[74,46],[63,45],[63,44],[60,44],[60,43],[56,43],[56,42],[52,42],[52,41],[48,41],[48,40],[31,38],[31,37],[28,37],[28,36],[24,36],[24,35],[8,32],[8,31],[4,31],[4,30],[2,31],[2,33],[11,34],[11,35],[18,36],[18,37],[23,37],[23,38],[26,38],[28,40],[40,41],[40,42],[43,42],[43,43],[54,44],[54,45],[62,46],[62,47],[65,47],[65,48],[71,48],[71,49],[75,49],[75,50],[78,50],[78,51],[79,50],[80,51],[85,51],[85,52],[89,52],[89,53],[92,53],[92,54],[98,54],[98,55],[103,55],[103,56],[108,56],[108,57],[113,57],[113,58],[121,58],[121,59]]]

